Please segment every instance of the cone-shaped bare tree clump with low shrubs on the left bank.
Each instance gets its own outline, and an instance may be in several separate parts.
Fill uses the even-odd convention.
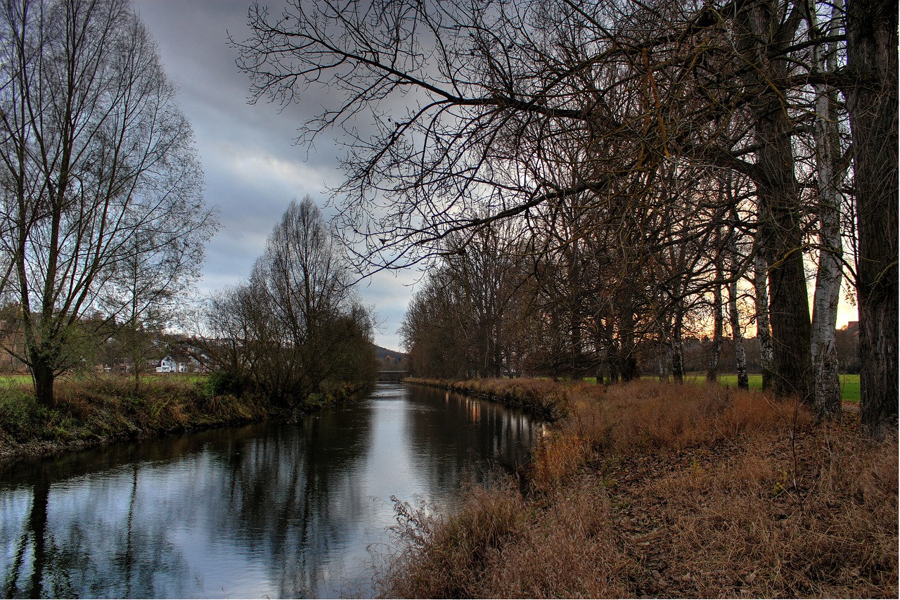
[[[214,295],[203,350],[220,391],[293,410],[374,378],[372,316],[319,208],[292,201],[247,282]]]

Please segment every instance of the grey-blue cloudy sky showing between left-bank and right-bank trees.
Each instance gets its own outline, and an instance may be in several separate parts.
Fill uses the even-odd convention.
[[[247,39],[250,2],[134,0],[193,123],[206,202],[220,209],[220,232],[206,250],[202,292],[246,278],[291,199],[311,195],[325,208],[328,188],[341,177],[341,152],[327,135],[309,153],[293,145],[297,127],[327,98],[304,99],[280,113],[263,102],[247,105],[249,79],[235,66],[237,51],[229,47],[228,34]],[[360,284],[360,295],[382,322],[375,334],[379,345],[400,350],[397,328],[417,275],[380,273]]]

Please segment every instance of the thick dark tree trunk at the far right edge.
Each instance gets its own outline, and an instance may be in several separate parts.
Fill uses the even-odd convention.
[[[897,423],[896,2],[847,1],[847,70],[860,236],[860,419],[878,439]]]

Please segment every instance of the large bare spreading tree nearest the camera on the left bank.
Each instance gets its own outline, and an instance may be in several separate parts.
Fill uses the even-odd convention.
[[[4,238],[35,393],[78,359],[93,311],[135,236],[198,248],[213,223],[193,134],[127,0],[0,7]],[[199,237],[198,237],[199,236]]]

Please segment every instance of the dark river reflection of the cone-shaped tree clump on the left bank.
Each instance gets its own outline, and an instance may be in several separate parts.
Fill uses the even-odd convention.
[[[279,595],[321,595],[338,568],[331,550],[346,545],[365,509],[353,477],[365,460],[370,412],[362,404],[324,411],[297,425],[301,435],[283,428],[229,452],[228,503],[215,526],[273,558]]]

